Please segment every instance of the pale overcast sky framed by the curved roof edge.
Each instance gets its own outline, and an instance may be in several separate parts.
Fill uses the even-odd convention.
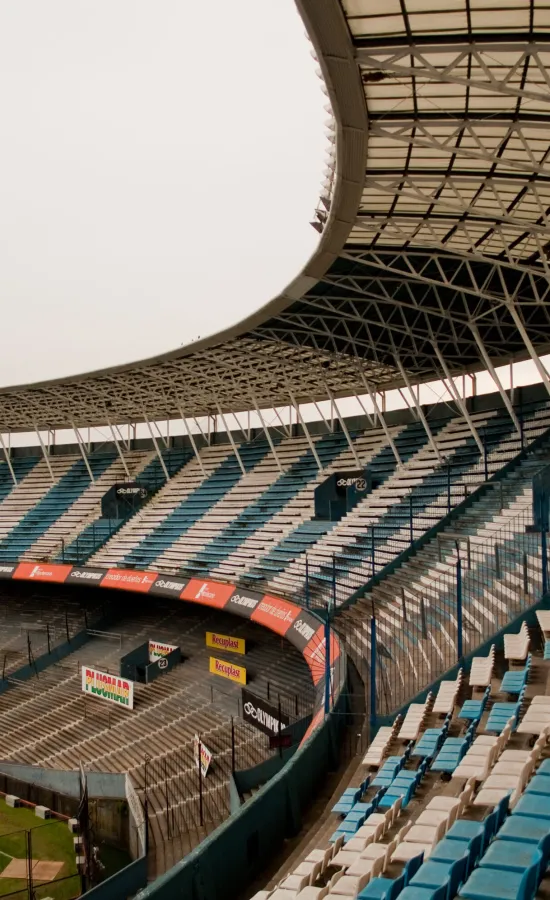
[[[297,274],[310,49],[292,0],[2,0],[0,385],[171,350]]]

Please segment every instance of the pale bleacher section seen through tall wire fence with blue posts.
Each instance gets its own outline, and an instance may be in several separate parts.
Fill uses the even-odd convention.
[[[547,592],[547,534],[532,523],[524,503],[439,535],[374,586],[353,617],[335,619],[375,713],[399,709]]]

